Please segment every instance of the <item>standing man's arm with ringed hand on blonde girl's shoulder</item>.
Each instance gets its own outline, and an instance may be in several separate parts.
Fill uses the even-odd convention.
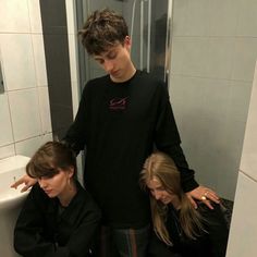
[[[195,172],[189,169],[184,152],[181,148],[181,138],[179,130],[175,123],[174,114],[171,108],[169,94],[164,85],[160,85],[159,91],[157,94],[159,97],[159,112],[158,121],[156,125],[156,138],[155,143],[158,150],[161,150],[169,155],[175,162],[180,173],[181,173],[181,184],[184,192],[187,193],[193,206],[196,208],[197,200],[204,200],[205,204],[212,208],[208,199],[219,203],[219,196],[211,189],[198,185],[195,181]],[[206,193],[208,194],[206,195]],[[206,197],[206,199],[203,199]]]

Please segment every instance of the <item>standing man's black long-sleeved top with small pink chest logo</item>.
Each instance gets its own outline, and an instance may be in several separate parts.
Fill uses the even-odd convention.
[[[86,146],[85,185],[105,222],[117,228],[150,221],[138,179],[155,147],[173,158],[186,192],[198,185],[180,147],[167,87],[146,72],[137,71],[125,83],[113,83],[109,75],[89,81],[64,140],[76,152]]]

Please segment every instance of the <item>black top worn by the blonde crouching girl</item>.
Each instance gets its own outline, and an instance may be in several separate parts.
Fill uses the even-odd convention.
[[[224,257],[229,230],[224,216],[217,204],[211,204],[213,210],[203,203],[198,203],[198,211],[203,216],[205,231],[196,240],[186,237],[179,222],[179,212],[169,207],[167,229],[169,231],[173,250],[183,257]]]

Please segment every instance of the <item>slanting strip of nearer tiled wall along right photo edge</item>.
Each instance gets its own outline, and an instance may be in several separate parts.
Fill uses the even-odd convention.
[[[257,256],[257,63],[227,257]]]

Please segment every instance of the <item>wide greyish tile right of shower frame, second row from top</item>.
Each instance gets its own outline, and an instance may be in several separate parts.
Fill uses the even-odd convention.
[[[234,39],[174,37],[171,71],[173,74],[230,78]]]

